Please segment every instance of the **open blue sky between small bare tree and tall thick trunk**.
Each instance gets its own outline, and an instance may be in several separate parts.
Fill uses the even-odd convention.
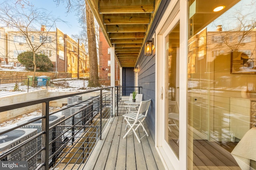
[[[53,2],[53,0],[29,0],[29,2],[34,4],[36,8],[44,8],[48,10],[48,13],[51,12],[53,16],[68,22],[68,25],[63,22],[56,23],[58,29],[60,29],[63,33],[71,36],[72,34],[78,34],[82,29],[78,23],[78,17],[75,16],[75,12],[66,13],[66,4],[56,6],[56,3]]]

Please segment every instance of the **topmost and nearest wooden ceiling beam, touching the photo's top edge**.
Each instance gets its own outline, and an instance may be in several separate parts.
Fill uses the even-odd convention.
[[[100,14],[131,14],[154,12],[155,0],[100,0]]]

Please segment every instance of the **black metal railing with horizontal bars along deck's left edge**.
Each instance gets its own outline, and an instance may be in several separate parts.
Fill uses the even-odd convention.
[[[0,111],[4,112],[42,104],[42,114],[15,127],[0,129],[3,138],[19,136],[18,141],[11,141],[11,146],[0,142],[0,161],[28,161],[29,170],[80,168],[113,115],[112,89],[102,88],[1,106]],[[86,100],[73,102],[52,113],[49,111],[50,101],[91,92],[98,92],[98,95],[88,96]],[[57,119],[53,120],[53,117]]]

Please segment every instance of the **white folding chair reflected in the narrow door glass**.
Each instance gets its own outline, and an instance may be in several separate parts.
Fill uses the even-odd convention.
[[[178,102],[176,101],[169,101],[169,106],[168,106],[169,110],[168,110],[168,119],[169,122],[168,123],[168,129],[170,132],[172,132],[171,130],[171,126],[176,126],[178,131],[179,131],[179,127],[177,125],[176,121],[179,121],[179,106],[178,106]],[[179,142],[179,138],[177,143]]]

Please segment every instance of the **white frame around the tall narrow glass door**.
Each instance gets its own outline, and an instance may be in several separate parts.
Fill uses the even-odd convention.
[[[180,9],[180,6],[182,9]],[[168,5],[158,27],[156,28],[156,148],[164,162],[166,169],[187,169],[187,111],[186,111],[186,87],[187,87],[187,21],[185,9],[186,0],[172,0]],[[165,56],[165,37],[172,28],[180,21],[180,142],[179,159],[176,157],[168,143],[164,140],[164,99],[165,93],[162,86],[164,84],[164,56]],[[162,89],[162,90],[161,90]],[[163,93],[162,93],[163,92]],[[163,95],[161,95],[163,94]]]

